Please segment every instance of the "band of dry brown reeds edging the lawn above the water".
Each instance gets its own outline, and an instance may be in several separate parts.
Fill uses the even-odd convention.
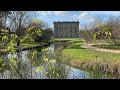
[[[120,78],[120,63],[114,61],[71,61],[70,66],[80,70],[90,70],[111,74],[113,77]]]

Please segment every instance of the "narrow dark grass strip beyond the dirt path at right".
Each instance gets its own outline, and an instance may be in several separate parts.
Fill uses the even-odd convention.
[[[115,45],[115,44],[101,44],[101,45],[92,45],[94,47],[100,47],[100,48],[105,48],[105,49],[114,49],[114,50],[120,50],[120,45]]]

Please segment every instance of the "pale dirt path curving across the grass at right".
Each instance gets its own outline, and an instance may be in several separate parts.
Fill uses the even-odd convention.
[[[102,51],[102,52],[120,53],[120,50],[103,49],[103,48],[93,47],[91,45],[93,45],[93,44],[85,44],[85,45],[81,45],[81,47],[93,49],[96,51]]]

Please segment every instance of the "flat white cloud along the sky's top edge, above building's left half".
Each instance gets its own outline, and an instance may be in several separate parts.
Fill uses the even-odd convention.
[[[66,16],[68,15],[65,11],[38,11],[41,15],[56,15],[56,16]]]

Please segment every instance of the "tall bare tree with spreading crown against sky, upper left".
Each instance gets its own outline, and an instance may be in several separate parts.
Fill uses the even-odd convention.
[[[18,35],[18,46],[20,38],[26,34],[26,27],[35,19],[35,13],[33,11],[11,11],[11,14],[8,15],[7,26],[11,32]]]

